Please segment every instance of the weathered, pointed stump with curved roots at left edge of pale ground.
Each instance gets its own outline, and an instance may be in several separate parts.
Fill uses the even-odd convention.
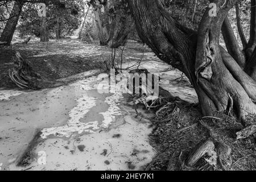
[[[19,52],[16,52],[14,68],[9,70],[11,80],[21,89],[43,89],[54,88],[65,85],[60,81],[49,81],[38,73],[34,72],[30,63],[22,58]]]

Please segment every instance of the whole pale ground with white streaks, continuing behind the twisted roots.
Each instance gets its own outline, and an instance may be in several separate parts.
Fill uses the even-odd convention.
[[[160,86],[197,102],[187,83],[174,81],[180,72],[154,53],[143,57],[140,68],[159,73]],[[156,152],[148,141],[150,121],[136,118],[125,105],[127,94],[99,92],[97,73],[82,73],[77,82],[55,89],[0,90],[2,170],[134,170],[151,162]]]

